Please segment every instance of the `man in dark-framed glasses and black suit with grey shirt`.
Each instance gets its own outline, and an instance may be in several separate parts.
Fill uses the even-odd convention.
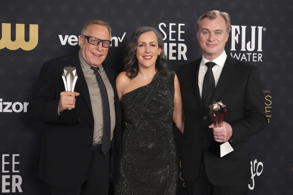
[[[81,31],[78,53],[42,66],[28,112],[32,119],[45,122],[37,169],[51,194],[106,195],[110,177],[117,182],[121,107],[116,73],[104,62],[110,40],[108,23],[90,20]],[[61,77],[69,66],[78,74],[74,92],[65,91]],[[60,124],[67,108],[74,108],[79,124]]]

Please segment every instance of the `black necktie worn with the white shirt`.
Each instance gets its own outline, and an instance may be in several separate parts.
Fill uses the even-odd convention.
[[[201,102],[204,106],[204,109],[208,107],[208,103],[212,98],[212,94],[214,93],[215,89],[215,78],[212,71],[212,68],[216,64],[214,62],[207,62],[205,66],[208,67],[207,72],[204,75],[204,82],[202,84],[202,93],[201,93]]]

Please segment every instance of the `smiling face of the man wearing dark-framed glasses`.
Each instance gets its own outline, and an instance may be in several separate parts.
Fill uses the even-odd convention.
[[[104,40],[111,40],[110,33],[105,26],[98,24],[92,24],[87,30],[87,36],[96,37]],[[105,60],[108,49],[102,46],[102,43],[98,45],[92,45],[84,36],[79,37],[80,49],[82,57],[85,59],[89,65],[93,67],[98,67]]]

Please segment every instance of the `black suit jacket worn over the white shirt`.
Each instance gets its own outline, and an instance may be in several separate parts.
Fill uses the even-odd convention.
[[[267,124],[264,115],[259,70],[256,66],[227,56],[212,101],[227,106],[225,122],[233,129],[234,151],[219,159],[208,151],[213,138],[212,119],[204,110],[198,87],[201,58],[179,67],[179,81],[185,112],[183,133],[183,178],[195,181],[199,174],[201,155],[209,181],[215,186],[247,185],[250,180],[250,153],[248,138]]]

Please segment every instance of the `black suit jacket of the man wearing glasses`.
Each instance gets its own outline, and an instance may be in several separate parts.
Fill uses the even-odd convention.
[[[61,77],[64,66],[76,67],[78,74],[74,91],[79,92],[80,95],[76,97],[74,110],[80,119],[80,124],[59,124],[60,117],[57,110],[60,93],[65,91]],[[111,162],[114,161],[112,173],[115,183],[118,180],[120,158],[121,106],[116,92],[114,69],[105,62],[103,62],[103,68],[114,90],[116,112],[115,155],[112,156]],[[45,132],[37,163],[38,176],[52,186],[76,190],[89,175],[94,131],[89,90],[78,59],[78,53],[45,62],[39,76],[36,94],[29,103],[28,113],[32,119],[45,122]],[[114,142],[112,149],[114,149]]]

